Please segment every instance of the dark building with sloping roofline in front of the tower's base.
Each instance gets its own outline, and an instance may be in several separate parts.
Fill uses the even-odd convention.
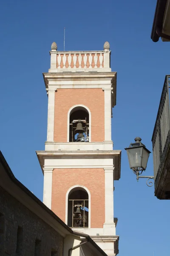
[[[31,193],[0,152],[0,256],[107,256]]]

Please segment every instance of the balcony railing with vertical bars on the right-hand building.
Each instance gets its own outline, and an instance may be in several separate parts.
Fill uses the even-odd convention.
[[[164,166],[170,145],[169,85],[170,76],[166,76],[152,137],[155,189],[158,186],[162,168]],[[163,183],[162,186],[164,186]]]

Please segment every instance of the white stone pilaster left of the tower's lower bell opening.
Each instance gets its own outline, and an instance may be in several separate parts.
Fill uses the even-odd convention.
[[[43,168],[43,171],[44,171],[43,203],[49,209],[51,209],[53,170],[54,168]]]

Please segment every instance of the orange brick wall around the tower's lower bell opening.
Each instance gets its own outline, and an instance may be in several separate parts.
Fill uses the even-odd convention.
[[[54,169],[51,209],[62,221],[65,221],[66,193],[74,185],[85,186],[91,193],[91,227],[103,227],[105,222],[104,169]]]

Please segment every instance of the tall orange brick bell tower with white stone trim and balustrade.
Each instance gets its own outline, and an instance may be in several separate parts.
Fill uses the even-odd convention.
[[[116,72],[110,45],[101,51],[57,51],[43,73],[48,95],[45,151],[37,151],[44,175],[43,202],[69,227],[86,233],[109,256],[118,253],[113,181],[121,151],[113,150],[112,108]]]

